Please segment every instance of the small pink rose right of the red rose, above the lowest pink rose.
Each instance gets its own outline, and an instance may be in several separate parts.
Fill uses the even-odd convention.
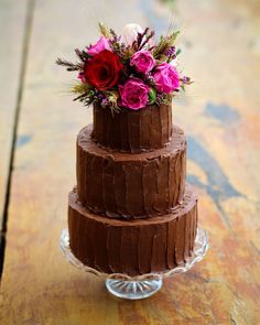
[[[139,73],[147,74],[154,67],[155,59],[149,51],[141,50],[133,54],[130,65],[134,66]]]

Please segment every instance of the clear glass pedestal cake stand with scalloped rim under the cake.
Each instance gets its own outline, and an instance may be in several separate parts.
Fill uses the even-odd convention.
[[[106,274],[83,264],[71,250],[67,229],[62,231],[61,248],[66,260],[74,267],[106,279],[106,288],[112,295],[128,300],[139,300],[156,293],[162,288],[164,278],[184,273],[195,263],[202,261],[208,249],[208,235],[206,230],[197,228],[193,256],[183,266],[161,273],[147,273],[138,277],[129,277],[121,273]]]

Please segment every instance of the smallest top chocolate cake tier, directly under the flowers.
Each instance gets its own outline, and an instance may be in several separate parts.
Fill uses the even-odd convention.
[[[151,105],[139,110],[94,105],[94,141],[117,151],[142,152],[164,147],[172,137],[171,105]]]

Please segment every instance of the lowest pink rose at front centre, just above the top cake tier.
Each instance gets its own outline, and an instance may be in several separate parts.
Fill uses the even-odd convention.
[[[130,78],[124,85],[118,87],[121,97],[120,105],[131,109],[140,109],[147,105],[150,88],[141,79]]]

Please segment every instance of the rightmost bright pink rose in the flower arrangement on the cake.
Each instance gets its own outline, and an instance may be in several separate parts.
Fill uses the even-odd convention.
[[[177,71],[167,63],[160,64],[153,74],[155,88],[160,93],[170,94],[180,86]]]

